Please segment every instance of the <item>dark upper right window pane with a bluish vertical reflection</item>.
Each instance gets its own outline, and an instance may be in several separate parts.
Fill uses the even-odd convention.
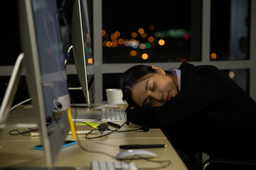
[[[210,60],[249,59],[250,1],[211,1]]]

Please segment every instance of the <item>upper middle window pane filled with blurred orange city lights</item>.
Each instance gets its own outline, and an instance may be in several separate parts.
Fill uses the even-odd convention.
[[[200,0],[102,1],[102,21],[103,63],[201,60]]]

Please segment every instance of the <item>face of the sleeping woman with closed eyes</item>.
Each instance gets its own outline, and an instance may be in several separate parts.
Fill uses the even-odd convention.
[[[162,106],[178,94],[174,79],[166,76],[162,69],[146,74],[140,80],[132,87],[132,99],[138,106]]]

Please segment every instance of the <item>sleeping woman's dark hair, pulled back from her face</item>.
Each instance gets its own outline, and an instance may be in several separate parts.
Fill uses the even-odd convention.
[[[120,87],[124,95],[124,99],[127,101],[129,106],[138,107],[137,104],[132,100],[132,87],[137,84],[139,79],[146,76],[149,73],[156,73],[155,69],[147,65],[136,65],[127,69],[120,79]]]

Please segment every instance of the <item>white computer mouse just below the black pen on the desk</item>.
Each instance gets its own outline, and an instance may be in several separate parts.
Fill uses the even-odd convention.
[[[139,157],[136,157],[139,156]],[[151,157],[157,157],[156,154],[153,152],[144,150],[144,149],[129,149],[124,152],[120,152],[116,155],[117,159],[131,159],[131,158],[151,158]]]

